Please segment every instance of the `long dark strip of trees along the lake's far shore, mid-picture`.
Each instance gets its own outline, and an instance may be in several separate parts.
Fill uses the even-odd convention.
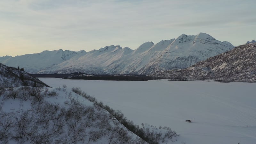
[[[94,76],[76,76],[64,77],[63,79],[85,79],[85,80],[113,80],[113,81],[148,81],[160,80],[156,77],[146,75],[94,75]]]

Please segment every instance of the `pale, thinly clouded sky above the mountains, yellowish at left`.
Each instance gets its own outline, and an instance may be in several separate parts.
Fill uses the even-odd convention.
[[[0,56],[136,49],[200,32],[237,46],[256,39],[255,14],[254,0],[1,0]]]

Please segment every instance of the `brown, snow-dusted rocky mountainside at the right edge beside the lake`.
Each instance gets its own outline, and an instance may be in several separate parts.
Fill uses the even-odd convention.
[[[256,82],[255,58],[256,43],[248,43],[189,68],[156,72],[153,76]]]

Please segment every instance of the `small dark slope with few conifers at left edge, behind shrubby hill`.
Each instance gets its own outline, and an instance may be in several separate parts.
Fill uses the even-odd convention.
[[[42,81],[17,68],[7,67],[0,63],[0,89],[19,86],[47,86]]]

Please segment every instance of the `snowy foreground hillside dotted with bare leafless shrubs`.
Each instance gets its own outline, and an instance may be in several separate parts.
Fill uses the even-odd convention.
[[[160,130],[149,125],[136,126],[120,111],[97,102],[79,88],[72,91],[65,85],[62,88],[22,86],[2,89],[0,141],[157,144],[172,143],[178,136],[167,127]]]

